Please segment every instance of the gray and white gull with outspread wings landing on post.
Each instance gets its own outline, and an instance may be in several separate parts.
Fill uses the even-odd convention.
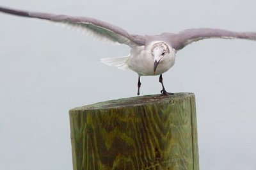
[[[162,33],[161,35],[134,35],[124,29],[89,17],[72,17],[68,15],[55,15],[52,13],[28,12],[0,6],[0,12],[21,17],[29,17],[52,22],[59,22],[69,26],[79,27],[89,31],[94,36],[109,40],[113,43],[128,45],[131,52],[121,58],[104,58],[103,63],[121,69],[129,69],[138,73],[138,92],[140,95],[141,76],[159,75],[163,95],[168,93],[163,84],[163,73],[168,71],[175,63],[175,54],[186,45],[207,38],[248,39],[256,40],[256,32],[235,32],[225,29],[194,28],[179,33]]]

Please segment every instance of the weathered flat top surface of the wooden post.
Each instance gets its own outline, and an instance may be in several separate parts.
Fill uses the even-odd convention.
[[[141,97],[121,98],[118,100],[109,100],[106,102],[99,102],[91,105],[84,105],[76,107],[70,111],[77,110],[97,110],[97,109],[110,109],[115,107],[134,107],[143,104],[150,104],[156,102],[165,102],[172,100],[180,100],[180,98],[195,97],[193,93],[174,93],[173,95],[146,95]]]

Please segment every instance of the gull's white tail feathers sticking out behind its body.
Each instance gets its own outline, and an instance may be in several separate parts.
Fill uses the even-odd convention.
[[[127,61],[130,56],[122,57],[122,58],[102,58],[100,61],[109,66],[116,66],[117,68],[126,70],[129,69],[127,65]]]

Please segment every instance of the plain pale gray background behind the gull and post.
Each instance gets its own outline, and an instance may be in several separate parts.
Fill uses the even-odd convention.
[[[0,5],[82,15],[129,33],[157,35],[191,27],[256,31],[253,0],[2,0]],[[109,45],[48,22],[0,13],[0,169],[72,169],[68,110],[136,96],[137,75],[100,63],[126,56]],[[256,42],[204,40],[177,53],[164,73],[172,92],[196,95],[200,168],[256,167]],[[159,93],[141,78],[141,95]]]

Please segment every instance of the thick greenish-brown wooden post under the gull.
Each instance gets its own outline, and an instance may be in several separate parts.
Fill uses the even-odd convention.
[[[199,169],[195,95],[148,95],[71,109],[74,170]]]

